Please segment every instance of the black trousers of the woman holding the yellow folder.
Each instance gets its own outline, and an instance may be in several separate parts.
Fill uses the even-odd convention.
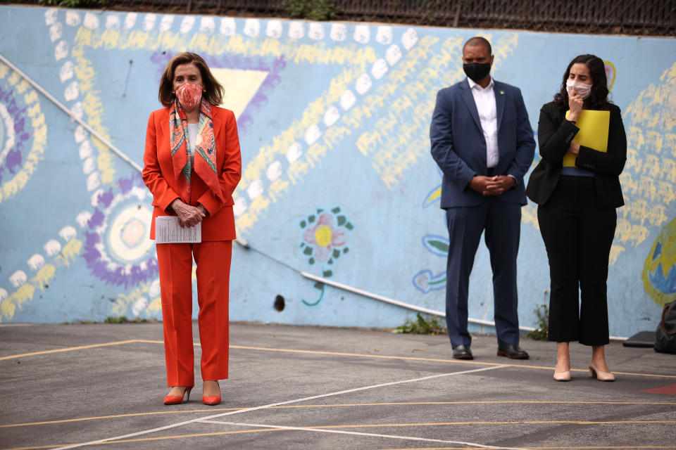
[[[596,205],[593,176],[561,176],[537,208],[537,221],[549,257],[549,340],[608,344],[606,280],[615,209]]]

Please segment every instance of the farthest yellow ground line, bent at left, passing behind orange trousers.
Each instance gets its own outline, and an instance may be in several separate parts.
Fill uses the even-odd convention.
[[[54,350],[45,350],[44,352],[32,352],[17,354],[11,356],[2,356],[0,361],[4,359],[15,359],[25,356],[35,356],[39,354],[50,354],[58,352],[73,352],[74,350],[83,350],[91,349],[95,347],[105,347],[107,345],[123,345],[123,344],[132,344],[134,342],[143,343],[143,344],[164,344],[161,340],[146,340],[146,339],[131,339],[123,340],[117,342],[107,342],[104,344],[94,344],[94,345],[82,345],[80,347],[67,347],[63,349],[54,349]],[[199,342],[193,342],[194,345],[199,347]],[[425,361],[425,362],[436,362],[436,363],[453,363],[453,364],[472,364],[475,366],[504,366],[504,367],[516,367],[516,368],[532,368],[545,371],[553,371],[552,366],[529,366],[527,364],[502,364],[502,363],[489,363],[485,361],[466,361],[461,359],[439,359],[439,358],[420,358],[419,356],[392,356],[392,355],[381,355],[381,354],[363,354],[363,353],[345,353],[345,352],[328,352],[325,350],[299,350],[299,349],[280,349],[275,347],[249,347],[244,345],[230,345],[231,349],[241,349],[241,350],[257,350],[260,352],[281,352],[281,353],[299,353],[299,354],[320,354],[328,356],[351,356],[358,358],[373,358],[373,359],[400,359],[402,361]],[[584,372],[587,373],[589,369],[587,368],[571,368],[572,372]],[[630,375],[637,377],[651,377],[651,378],[675,378],[676,375],[661,375],[658,373],[635,373],[635,372],[613,372],[615,375]]]

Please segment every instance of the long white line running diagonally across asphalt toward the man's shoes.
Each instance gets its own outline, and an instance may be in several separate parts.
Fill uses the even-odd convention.
[[[118,439],[127,439],[128,437],[147,435],[147,434],[152,433],[152,432],[170,430],[172,428],[177,428],[177,427],[180,427],[182,425],[188,425],[189,423],[196,423],[196,422],[199,422],[200,420],[209,420],[209,419],[215,419],[215,418],[224,417],[224,416],[232,416],[232,414],[248,413],[249,411],[257,411],[258,409],[268,409],[268,408],[272,408],[273,406],[299,403],[301,401],[321,399],[321,398],[324,398],[324,397],[332,397],[334,395],[350,394],[351,392],[359,392],[359,391],[363,391],[363,390],[375,389],[376,387],[394,386],[394,385],[401,385],[403,383],[415,383],[417,381],[432,380],[433,378],[442,378],[442,377],[448,377],[448,376],[453,376],[453,375],[465,375],[467,373],[492,371],[492,370],[495,370],[496,368],[504,368],[504,367],[508,367],[508,366],[492,366],[492,367],[484,367],[484,368],[475,368],[475,369],[472,369],[470,371],[440,373],[440,374],[437,374],[437,375],[429,375],[429,376],[421,377],[421,378],[413,378],[411,380],[392,381],[390,383],[381,383],[379,385],[355,387],[354,389],[348,389],[348,390],[343,390],[343,391],[338,391],[338,392],[330,392],[328,394],[313,395],[312,397],[303,397],[302,399],[279,401],[277,403],[270,403],[270,404],[262,405],[262,406],[253,406],[252,408],[238,409],[237,411],[229,411],[227,413],[214,414],[213,416],[206,416],[206,417],[196,418],[196,419],[192,419],[192,420],[185,420],[184,422],[173,423],[171,425],[165,425],[163,427],[158,427],[158,428],[151,428],[150,430],[138,431],[138,432],[135,432],[135,433],[130,433],[128,435],[106,437],[106,439],[99,439],[99,440],[96,440],[96,441],[82,442],[82,444],[73,444],[73,445],[62,446],[62,447],[58,447],[58,448],[52,449],[52,450],[75,449],[77,447],[82,447],[82,446],[87,446],[87,445],[102,444],[103,442],[116,441]]]

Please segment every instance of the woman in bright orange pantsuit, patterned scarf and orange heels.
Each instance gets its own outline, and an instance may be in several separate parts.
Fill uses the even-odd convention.
[[[242,176],[234,114],[218,108],[223,86],[195,53],[172,58],[162,75],[146,131],[143,180],[155,218],[177,216],[182,227],[201,222],[200,243],[157,245],[167,382],[164,404],[189,399],[194,385],[192,259],[197,265],[202,402],[220,404],[227,378],[228,286],[235,238],[232,192]]]

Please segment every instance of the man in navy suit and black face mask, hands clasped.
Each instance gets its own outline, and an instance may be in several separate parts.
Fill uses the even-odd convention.
[[[432,115],[432,157],[442,169],[442,205],[449,228],[446,326],[453,358],[473,359],[467,330],[468,285],[484,240],[491,255],[499,356],[527,359],[519,347],[516,257],[523,176],[535,150],[533,131],[515,86],[496,82],[491,44],[472,37],[463,46],[468,78],[439,91]]]

